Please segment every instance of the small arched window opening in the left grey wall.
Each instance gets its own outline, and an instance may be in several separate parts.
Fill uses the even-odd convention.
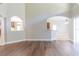
[[[22,31],[23,20],[18,16],[11,17],[11,31]]]

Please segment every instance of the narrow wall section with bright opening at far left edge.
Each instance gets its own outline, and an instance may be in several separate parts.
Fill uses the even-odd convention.
[[[4,44],[5,43],[5,32],[6,32],[6,29],[5,29],[5,17],[6,17],[6,7],[7,5],[6,4],[0,4],[0,20],[1,20],[1,37],[0,37],[0,45]]]

